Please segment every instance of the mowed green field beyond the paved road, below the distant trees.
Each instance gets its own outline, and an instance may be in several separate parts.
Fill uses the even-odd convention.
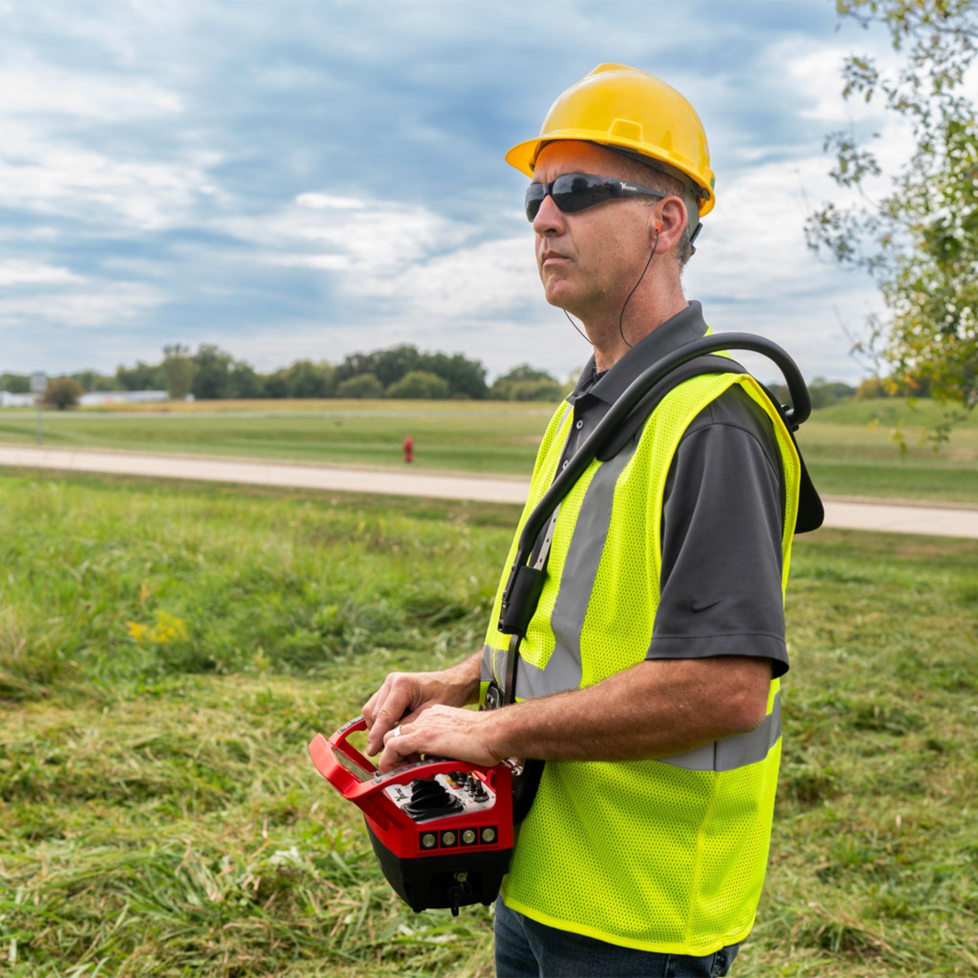
[[[219,401],[142,405],[124,413],[45,415],[52,448],[110,448],[360,467],[414,467],[527,476],[553,405],[499,401]],[[165,408],[165,410],[163,410]],[[822,493],[978,506],[978,418],[934,451],[923,441],[936,405],[901,398],[816,412],[799,433]],[[0,412],[0,443],[32,444],[30,414]],[[901,453],[894,433],[907,446]]]

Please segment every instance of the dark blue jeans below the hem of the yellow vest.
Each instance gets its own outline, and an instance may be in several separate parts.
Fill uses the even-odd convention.
[[[738,944],[714,955],[660,955],[557,930],[496,901],[497,978],[717,978]]]

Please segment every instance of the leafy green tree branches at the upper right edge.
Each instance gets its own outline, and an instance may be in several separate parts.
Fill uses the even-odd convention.
[[[965,88],[978,56],[978,0],[836,0],[836,8],[840,24],[889,32],[900,67],[851,56],[842,95],[881,101],[905,120],[911,154],[886,174],[853,133],[829,133],[829,176],[859,200],[824,203],[806,240],[875,280],[886,315],[869,317],[857,348],[890,364],[896,383],[926,382],[946,408],[931,432],[941,441],[978,404],[978,118]],[[871,200],[867,182],[887,175],[891,192]]]

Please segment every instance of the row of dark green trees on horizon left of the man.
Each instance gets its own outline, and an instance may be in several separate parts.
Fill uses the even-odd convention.
[[[0,389],[26,393],[30,378],[0,375]],[[424,353],[407,344],[353,353],[338,364],[297,360],[262,374],[227,351],[203,343],[196,353],[180,344],[164,346],[158,363],[120,365],[113,375],[86,370],[54,378],[48,400],[54,407],[70,407],[84,393],[127,390],[165,390],[173,399],[192,394],[196,400],[208,401],[330,397],[556,401],[561,396],[556,378],[528,364],[488,384],[486,369],[478,360],[461,353]]]

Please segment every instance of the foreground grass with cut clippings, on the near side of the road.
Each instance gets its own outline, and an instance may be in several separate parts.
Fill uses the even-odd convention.
[[[305,745],[389,670],[480,644],[515,518],[0,477],[8,972],[490,975],[488,911],[400,904]],[[797,541],[771,867],[740,978],[978,969],[976,608],[978,542]]]

